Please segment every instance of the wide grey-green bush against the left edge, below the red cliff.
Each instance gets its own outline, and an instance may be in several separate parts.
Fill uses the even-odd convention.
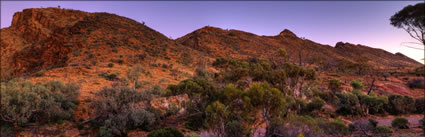
[[[28,122],[70,120],[78,104],[79,86],[59,81],[33,84],[13,79],[1,85],[1,120],[25,125]]]

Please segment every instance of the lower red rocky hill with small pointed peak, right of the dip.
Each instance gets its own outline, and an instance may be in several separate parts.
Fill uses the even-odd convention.
[[[380,68],[420,66],[419,62],[401,53],[392,54],[382,49],[343,42],[332,47],[299,38],[287,29],[276,36],[258,36],[238,30],[204,27],[177,39],[177,42],[213,57],[267,58],[274,56],[276,49],[285,48],[294,62],[301,60],[310,63],[320,58],[336,64],[338,60],[356,62],[357,57],[367,57],[371,65]]]

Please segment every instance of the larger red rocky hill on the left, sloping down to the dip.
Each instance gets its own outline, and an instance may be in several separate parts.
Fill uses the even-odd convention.
[[[153,58],[174,57],[176,60],[182,52],[190,51],[125,17],[58,8],[25,9],[16,13],[12,25],[2,29],[1,43],[2,53],[6,51],[1,56],[5,60],[2,72],[10,70],[10,75],[66,66],[71,52],[78,49],[108,56],[111,49],[124,48]]]

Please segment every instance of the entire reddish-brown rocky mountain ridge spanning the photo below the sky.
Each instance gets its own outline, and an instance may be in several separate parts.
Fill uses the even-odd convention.
[[[382,49],[342,42],[332,47],[299,38],[288,29],[274,36],[259,36],[242,30],[205,26],[171,40],[130,18],[59,8],[24,9],[14,14],[10,27],[1,30],[4,49],[2,71],[12,71],[2,74],[12,75],[34,73],[59,63],[70,65],[66,62],[72,60],[70,54],[75,52],[73,50],[89,48],[92,44],[98,48],[103,45],[101,50],[106,50],[105,46],[109,45],[110,51],[125,45],[151,58],[161,54],[166,58],[172,56],[174,61],[184,58],[183,54],[192,54],[188,52],[193,52],[197,58],[270,58],[277,49],[285,48],[294,62],[324,58],[335,65],[338,60],[355,62],[353,57],[365,55],[371,59],[371,64],[383,68],[421,65],[401,53],[396,55]]]

